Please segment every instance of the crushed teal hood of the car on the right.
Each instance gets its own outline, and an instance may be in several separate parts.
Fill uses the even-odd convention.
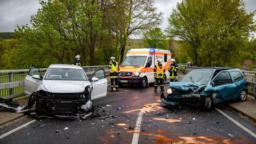
[[[182,91],[188,91],[189,89],[198,89],[199,85],[190,82],[171,82],[170,87]]]

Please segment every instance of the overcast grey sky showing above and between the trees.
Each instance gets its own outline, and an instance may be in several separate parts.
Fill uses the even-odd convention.
[[[167,18],[177,2],[181,0],[155,0],[158,11],[164,13],[164,20],[160,26],[162,29],[167,27]],[[245,0],[245,5],[248,12],[256,10],[256,0]],[[12,32],[17,24],[29,24],[30,15],[35,14],[40,7],[38,0],[0,0],[0,32]]]

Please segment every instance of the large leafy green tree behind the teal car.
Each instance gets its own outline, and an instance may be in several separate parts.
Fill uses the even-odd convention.
[[[169,18],[168,34],[186,43],[197,66],[232,66],[255,30],[253,16],[241,0],[187,0]]]

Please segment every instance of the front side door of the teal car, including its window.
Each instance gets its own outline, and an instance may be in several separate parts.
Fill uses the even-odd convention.
[[[227,101],[233,98],[236,86],[228,71],[221,71],[213,78],[212,82],[216,102]]]

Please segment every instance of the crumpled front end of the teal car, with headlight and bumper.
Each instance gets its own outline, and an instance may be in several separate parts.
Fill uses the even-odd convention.
[[[207,91],[206,91],[207,90]],[[161,94],[161,101],[165,105],[204,105],[205,97],[212,94],[206,85],[197,85],[194,83],[172,82],[167,90],[167,95]]]

